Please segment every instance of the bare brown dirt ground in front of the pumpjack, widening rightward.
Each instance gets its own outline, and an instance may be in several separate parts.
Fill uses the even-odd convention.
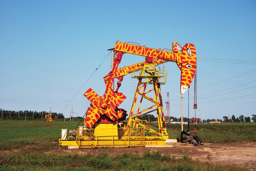
[[[62,149],[58,148],[50,153],[53,154],[99,154],[108,152],[110,155],[132,152],[142,154],[145,151],[161,151],[176,157],[187,153],[193,159],[209,161],[212,163],[235,164],[250,169],[256,169],[256,142],[235,142],[226,144],[204,143],[204,146],[197,147],[186,143],[168,143],[166,147],[131,147],[131,148],[93,148],[93,149]]]

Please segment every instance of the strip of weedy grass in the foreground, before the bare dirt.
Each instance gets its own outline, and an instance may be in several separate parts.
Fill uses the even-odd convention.
[[[210,158],[210,155],[208,155]],[[122,153],[110,156],[107,152],[98,155],[92,154],[0,154],[0,171],[12,170],[47,170],[47,171],[99,171],[99,170],[120,170],[120,171],[176,171],[176,170],[211,170],[211,171],[248,171],[244,167],[236,165],[213,164],[209,161],[202,162],[193,160],[187,153],[182,157],[175,157],[169,154],[161,154],[160,151],[147,151],[142,155],[134,153]]]

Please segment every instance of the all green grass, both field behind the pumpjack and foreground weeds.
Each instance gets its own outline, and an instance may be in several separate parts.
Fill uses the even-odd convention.
[[[73,170],[147,170],[147,171],[247,171],[248,168],[236,165],[192,160],[187,154],[175,157],[161,152],[145,152],[142,155],[121,153],[109,156],[108,153],[54,155],[45,153],[52,149],[28,150],[27,145],[42,142],[56,142],[61,137],[61,129],[73,130],[79,122],[46,122],[1,120],[0,129],[0,171],[35,170],[35,171],[73,171]],[[83,122],[79,126],[82,126]],[[194,125],[190,125],[190,130]],[[184,125],[184,130],[187,125]],[[198,124],[200,139],[210,143],[226,143],[236,141],[256,141],[256,123],[230,124]],[[181,124],[167,124],[169,138],[180,139]],[[58,148],[58,145],[56,145]],[[25,149],[25,152],[17,149]],[[6,153],[5,150],[10,151]]]

